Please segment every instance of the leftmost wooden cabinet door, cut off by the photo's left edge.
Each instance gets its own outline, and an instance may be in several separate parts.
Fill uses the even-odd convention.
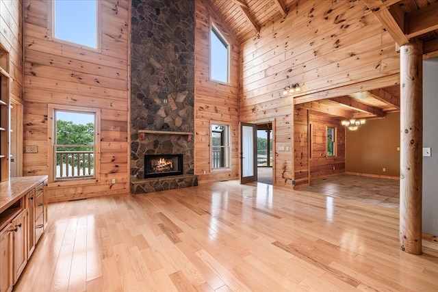
[[[12,291],[12,224],[0,231],[0,291]]]

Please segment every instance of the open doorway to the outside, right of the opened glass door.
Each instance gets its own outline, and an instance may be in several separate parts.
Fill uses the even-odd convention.
[[[272,122],[257,124],[257,182],[272,185]]]

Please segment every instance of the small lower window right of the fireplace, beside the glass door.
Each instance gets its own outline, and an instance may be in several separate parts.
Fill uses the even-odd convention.
[[[211,169],[229,168],[229,125],[211,124]]]

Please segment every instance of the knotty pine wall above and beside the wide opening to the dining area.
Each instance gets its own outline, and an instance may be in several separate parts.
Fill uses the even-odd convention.
[[[240,60],[240,120],[275,121],[274,184],[288,186],[292,178],[297,184],[309,181],[309,164],[294,159],[308,155],[298,152],[308,146],[307,124],[292,128],[293,99],[333,95],[343,86],[348,94],[346,85],[369,80],[377,88],[379,79],[391,77],[392,82],[400,72],[394,40],[362,1],[299,1],[285,18],[244,42]],[[283,96],[283,88],[293,83],[300,83],[302,92]],[[289,151],[279,151],[280,146]]]

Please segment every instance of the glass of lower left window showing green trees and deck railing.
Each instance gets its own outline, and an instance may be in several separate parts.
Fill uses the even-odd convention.
[[[55,110],[55,178],[94,178],[95,114]]]

